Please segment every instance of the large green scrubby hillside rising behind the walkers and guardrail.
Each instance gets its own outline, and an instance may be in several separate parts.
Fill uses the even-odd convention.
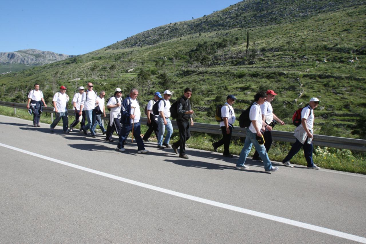
[[[365,16],[361,1],[243,1],[86,55],[1,75],[0,100],[25,102],[38,82],[51,104],[60,85],[71,95],[93,82],[107,96],[116,87],[124,95],[137,87],[145,106],[155,91],[172,90],[175,99],[190,86],[195,120],[216,123],[213,108],[227,94],[238,97],[235,108],[246,108],[258,90],[273,89],[279,94],[274,112],[285,122],[318,97],[315,133],[355,137],[352,127],[366,105]]]

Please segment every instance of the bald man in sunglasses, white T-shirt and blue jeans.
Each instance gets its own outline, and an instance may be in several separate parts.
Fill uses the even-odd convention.
[[[96,123],[96,114],[94,108],[97,105],[97,92],[93,90],[93,83],[89,82],[87,87],[88,89],[83,93],[81,98],[79,115],[82,114],[81,111],[84,109],[88,123],[82,127],[82,130],[86,135],[86,131],[90,129],[91,137],[96,137],[93,127]]]

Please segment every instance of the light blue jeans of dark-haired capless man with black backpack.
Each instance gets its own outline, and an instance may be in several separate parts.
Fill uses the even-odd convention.
[[[272,168],[271,161],[269,161],[266,148],[264,145],[259,145],[257,139],[257,134],[250,131],[249,128],[247,128],[247,137],[244,141],[244,146],[242,151],[240,152],[239,160],[236,163],[236,166],[240,167],[245,164],[245,160],[250,153],[251,146],[254,145],[255,149],[259,153],[259,157],[263,160],[264,169],[270,170]]]

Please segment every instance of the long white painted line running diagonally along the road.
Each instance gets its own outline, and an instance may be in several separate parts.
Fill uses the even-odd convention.
[[[191,195],[187,195],[187,194],[184,194],[184,193],[171,191],[171,190],[168,190],[168,189],[165,189],[165,188],[156,187],[156,186],[153,186],[153,185],[141,183],[141,182],[134,181],[134,180],[129,180],[129,179],[119,177],[119,176],[115,176],[113,174],[108,174],[108,173],[104,173],[104,172],[101,172],[101,171],[98,171],[98,170],[85,168],[85,167],[82,167],[82,166],[79,166],[79,165],[75,165],[75,164],[71,164],[71,163],[68,163],[68,162],[65,162],[65,161],[61,161],[59,159],[50,158],[50,157],[40,155],[40,154],[37,154],[37,153],[32,153],[30,151],[19,149],[17,147],[8,146],[8,145],[3,144],[3,143],[0,143],[0,146],[6,147],[6,148],[11,149],[11,150],[19,151],[21,153],[29,154],[29,155],[32,155],[34,157],[46,159],[46,160],[55,162],[57,164],[66,165],[66,166],[69,166],[69,167],[72,167],[72,168],[75,168],[75,169],[80,169],[80,170],[83,170],[83,171],[86,171],[86,172],[89,172],[89,173],[98,174],[100,176],[105,176],[105,177],[115,179],[115,180],[119,180],[119,181],[122,181],[122,182],[125,182],[125,183],[128,183],[128,184],[137,185],[139,187],[144,187],[144,188],[151,189],[151,190],[154,190],[154,191],[163,192],[165,194],[169,194],[169,195],[173,195],[173,196],[178,196],[180,198],[193,200],[195,202],[200,202],[200,203],[204,203],[204,204],[208,204],[208,205],[212,205],[212,206],[216,206],[216,207],[221,207],[223,209],[228,209],[228,210],[236,211],[236,212],[243,213],[243,214],[249,214],[249,215],[253,215],[253,216],[256,216],[256,217],[269,219],[269,220],[273,220],[273,221],[288,224],[288,225],[297,226],[297,227],[304,228],[304,229],[314,230],[314,231],[317,231],[317,232],[330,234],[332,236],[337,236],[337,237],[341,237],[341,238],[352,240],[352,241],[358,241],[358,242],[361,242],[361,243],[366,243],[366,238],[365,237],[355,236],[355,235],[340,232],[340,231],[337,231],[337,230],[323,228],[323,227],[316,226],[316,225],[306,224],[306,223],[291,220],[291,219],[286,219],[286,218],[282,218],[282,217],[278,217],[278,216],[274,216],[274,215],[270,215],[270,214],[265,214],[265,213],[261,213],[261,212],[257,212],[257,211],[253,211],[253,210],[249,210],[249,209],[244,209],[244,208],[241,208],[241,207],[235,207],[235,206],[225,204],[225,203],[220,203],[220,202],[215,202],[215,201],[204,199],[204,198],[199,198],[197,196],[191,196]]]

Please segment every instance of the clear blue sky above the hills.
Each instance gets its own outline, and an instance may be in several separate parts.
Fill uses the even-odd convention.
[[[239,0],[4,0],[0,52],[88,53],[168,23],[212,14]]]

